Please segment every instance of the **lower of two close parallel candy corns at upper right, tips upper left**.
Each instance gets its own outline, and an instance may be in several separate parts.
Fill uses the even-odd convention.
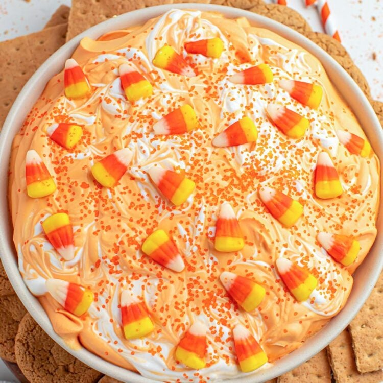
[[[310,125],[307,118],[284,106],[269,104],[267,112],[277,128],[290,138],[303,137]]]

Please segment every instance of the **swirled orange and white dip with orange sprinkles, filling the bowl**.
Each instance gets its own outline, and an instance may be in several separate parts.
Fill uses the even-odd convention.
[[[184,43],[219,37],[220,58],[186,54]],[[172,46],[186,57],[197,76],[185,77],[153,65],[156,52]],[[86,347],[112,363],[159,381],[222,381],[242,375],[232,329],[249,329],[269,363],[299,347],[339,313],[352,288],[352,273],[376,236],[379,161],[352,154],[339,141],[344,130],[365,139],[350,108],[331,84],[320,62],[301,47],[246,19],[172,10],[145,25],[110,33],[99,41],[84,38],[73,54],[91,91],[69,99],[63,71],[46,85],[13,142],[10,205],[19,269],[38,296],[52,324],[73,347]],[[153,86],[153,93],[127,101],[118,68],[128,63]],[[268,84],[229,81],[240,70],[266,63]],[[279,86],[281,79],[315,83],[323,88],[318,109],[304,106]],[[283,134],[266,113],[269,104],[288,107],[309,126],[302,138]],[[199,127],[180,135],[155,134],[164,115],[189,104]],[[230,124],[249,117],[256,142],[214,147],[212,140]],[[60,122],[77,124],[83,135],[74,149],[57,145],[47,129]],[[116,186],[101,186],[91,167],[122,148],[133,154]],[[57,190],[43,198],[26,192],[28,150],[42,158]],[[314,173],[320,152],[329,154],[343,189],[341,196],[315,195]],[[157,165],[181,172],[196,184],[186,202],[175,206],[148,176]],[[290,228],[275,219],[259,197],[272,187],[303,206]],[[242,250],[214,248],[218,212],[229,202],[244,237]],[[74,228],[75,256],[65,261],[47,240],[42,222],[58,211]],[[174,272],[141,251],[149,234],[164,230],[175,242],[185,268]],[[334,260],[317,241],[319,232],[352,236],[360,243],[348,267]],[[309,298],[297,301],[276,268],[280,257],[304,267],[317,279]],[[233,272],[261,285],[265,297],[246,312],[225,291],[222,272]],[[77,283],[94,293],[87,314],[69,314],[46,292],[45,280]],[[126,340],[120,299],[129,290],[145,303],[154,330]],[[196,371],[175,358],[185,331],[195,322],[207,327],[206,367]]]

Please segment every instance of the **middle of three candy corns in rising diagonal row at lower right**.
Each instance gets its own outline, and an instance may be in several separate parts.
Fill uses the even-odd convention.
[[[306,269],[286,258],[277,259],[278,273],[297,301],[305,301],[317,287],[318,281]]]

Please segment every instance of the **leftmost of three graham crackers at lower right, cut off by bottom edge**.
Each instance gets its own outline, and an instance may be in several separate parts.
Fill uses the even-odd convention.
[[[279,376],[277,383],[331,383],[327,352],[322,350],[306,363]]]

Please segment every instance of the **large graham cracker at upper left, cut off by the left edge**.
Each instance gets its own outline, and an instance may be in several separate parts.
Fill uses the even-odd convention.
[[[65,43],[67,25],[0,42],[0,128],[18,93],[37,68]]]

